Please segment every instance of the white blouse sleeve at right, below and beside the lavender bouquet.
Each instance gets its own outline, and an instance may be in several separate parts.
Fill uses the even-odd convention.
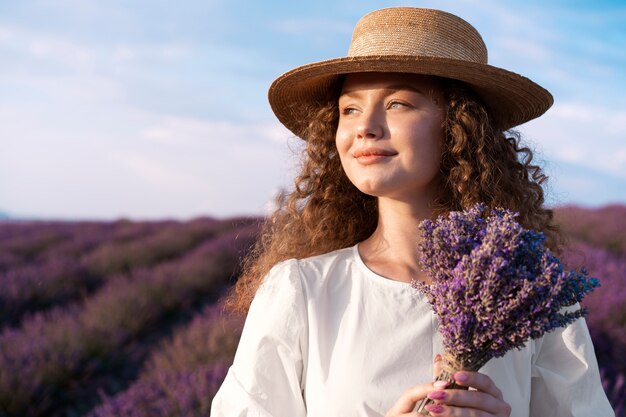
[[[532,417],[613,417],[583,318],[535,341]]]

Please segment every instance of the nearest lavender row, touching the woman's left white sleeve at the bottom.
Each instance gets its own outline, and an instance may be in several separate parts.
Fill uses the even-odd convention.
[[[243,320],[205,308],[146,361],[139,379],[89,417],[208,416],[232,362]]]

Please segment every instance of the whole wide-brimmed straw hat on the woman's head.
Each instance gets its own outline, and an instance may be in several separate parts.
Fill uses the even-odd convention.
[[[483,39],[465,20],[440,10],[392,7],[361,18],[348,56],[303,65],[274,80],[270,105],[278,120],[302,136],[310,106],[323,102],[341,75],[370,71],[463,81],[502,129],[539,117],[553,102],[547,90],[528,78],[488,65]]]

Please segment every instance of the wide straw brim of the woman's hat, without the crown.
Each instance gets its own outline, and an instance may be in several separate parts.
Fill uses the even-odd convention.
[[[448,58],[379,55],[329,59],[288,71],[270,86],[270,106],[281,123],[302,137],[311,106],[327,97],[341,75],[356,72],[401,72],[463,81],[488,106],[501,129],[539,117],[553,103],[546,89],[502,68]]]

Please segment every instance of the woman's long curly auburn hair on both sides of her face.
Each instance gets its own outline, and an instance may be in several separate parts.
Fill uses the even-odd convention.
[[[339,81],[328,99],[311,109],[303,137],[306,148],[294,190],[282,195],[243,260],[243,273],[228,295],[228,308],[246,313],[264,276],[278,262],[353,246],[367,239],[378,222],[377,200],[359,191],[346,176],[335,147]],[[531,163],[532,151],[517,132],[490,122],[488,109],[464,84],[441,80],[446,118],[440,174],[442,186],[433,216],[483,202],[520,213],[520,223],[543,231],[558,247],[552,211],[543,206],[547,179]]]

